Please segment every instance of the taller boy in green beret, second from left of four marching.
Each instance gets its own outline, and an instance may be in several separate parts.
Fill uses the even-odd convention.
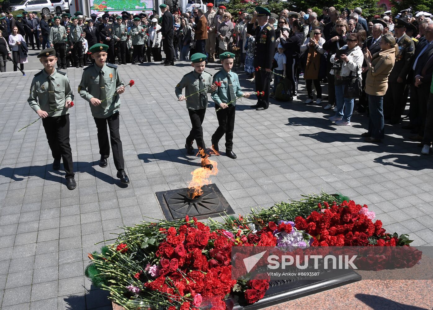
[[[125,91],[125,86],[120,79],[119,72],[117,72],[117,66],[106,63],[108,48],[108,45],[97,43],[89,49],[95,63],[83,70],[78,92],[83,99],[89,102],[90,111],[98,130],[99,153],[101,155],[99,166],[107,167],[107,158],[110,156],[108,123],[117,177],[122,183],[128,184],[129,178],[125,172],[122,141],[120,141],[119,133],[120,98],[118,95]]]

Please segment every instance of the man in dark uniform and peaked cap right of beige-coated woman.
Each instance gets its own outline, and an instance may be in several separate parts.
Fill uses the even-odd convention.
[[[384,116],[390,118],[389,124],[398,124],[401,113],[406,106],[404,89],[407,87],[406,79],[410,71],[411,60],[414,57],[414,41],[406,34],[410,24],[403,19],[394,19],[394,35],[398,45],[394,68],[388,77],[388,90],[384,96]]]

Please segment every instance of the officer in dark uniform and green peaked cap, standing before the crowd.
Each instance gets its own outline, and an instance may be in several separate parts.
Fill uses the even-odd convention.
[[[256,6],[257,21],[259,26],[255,29],[255,54],[254,67],[261,69],[255,73],[255,90],[264,91],[265,96],[257,97],[257,104],[253,108],[257,111],[268,109],[269,107],[269,89],[271,87],[271,67],[272,59],[275,54],[275,30],[268,23],[271,12],[261,6]],[[250,21],[247,24],[247,31],[251,31],[254,23]]]

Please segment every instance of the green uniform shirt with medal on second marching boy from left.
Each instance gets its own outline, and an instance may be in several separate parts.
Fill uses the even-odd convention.
[[[103,83],[100,83],[100,71],[102,71]],[[117,94],[114,95],[114,93],[120,86],[125,85],[119,76],[119,72],[117,72],[117,66],[115,64],[105,63],[102,68],[98,67],[96,64],[92,64],[83,70],[83,76],[78,86],[78,93],[80,93],[81,98],[89,102],[93,117],[107,118],[119,111],[120,97]],[[105,98],[101,96],[102,88],[105,89]],[[110,98],[110,96],[113,97]],[[94,106],[90,104],[90,99],[93,97],[101,101],[106,98],[110,99],[104,100],[98,106]]]

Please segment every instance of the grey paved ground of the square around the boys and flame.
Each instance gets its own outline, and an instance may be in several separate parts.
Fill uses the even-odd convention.
[[[219,68],[209,65],[211,74]],[[142,216],[162,218],[155,192],[186,187],[199,159],[187,156],[190,121],[174,86],[191,70],[159,64],[120,66],[135,86],[122,95],[120,134],[131,179],[116,179],[112,158],[100,168],[96,126],[87,102],[76,89],[81,69],[68,69],[75,89],[71,109],[71,147],[77,189],[68,191],[64,172],[52,170],[42,122],[26,102],[37,71],[0,74],[0,306],[2,310],[111,309],[106,293],[84,277],[87,253],[110,239],[119,226]],[[251,83],[241,76],[246,90]],[[329,114],[300,101],[276,102],[268,110],[238,102],[234,152],[238,158],[212,157],[219,173],[212,178],[236,213],[251,207],[300,198],[302,193],[341,192],[367,204],[394,233],[410,233],[414,245],[433,245],[432,157],[420,155],[407,131],[386,127],[381,144],[366,144],[360,134],[368,120],[354,115],[351,127],[332,125]],[[204,137],[217,127],[209,104]],[[402,137],[403,136],[403,137]],[[223,150],[223,141],[220,143]],[[114,177],[114,178],[113,178]]]

